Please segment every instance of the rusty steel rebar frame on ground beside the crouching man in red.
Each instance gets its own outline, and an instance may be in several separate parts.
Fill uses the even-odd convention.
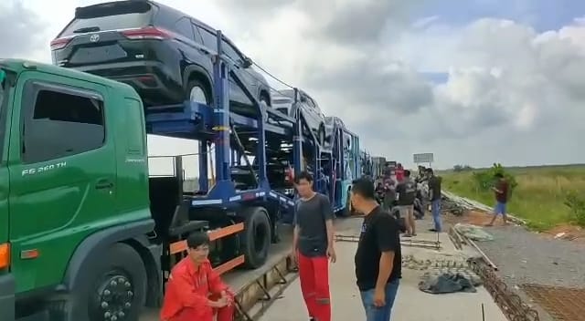
[[[298,274],[288,255],[282,255],[276,264],[264,270],[236,294],[235,321],[258,320],[274,300],[281,298]]]

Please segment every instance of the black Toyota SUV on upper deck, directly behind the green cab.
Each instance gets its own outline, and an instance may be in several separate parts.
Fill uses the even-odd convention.
[[[154,1],[126,0],[78,7],[51,42],[53,63],[122,81],[136,88],[144,106],[186,99],[210,104],[216,30]],[[223,54],[255,98],[271,106],[266,79],[228,38]],[[229,78],[230,108],[250,114],[251,100]]]

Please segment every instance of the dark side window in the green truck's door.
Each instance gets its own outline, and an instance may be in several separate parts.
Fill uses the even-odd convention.
[[[23,162],[99,149],[105,142],[103,102],[49,89],[37,91],[23,127]]]

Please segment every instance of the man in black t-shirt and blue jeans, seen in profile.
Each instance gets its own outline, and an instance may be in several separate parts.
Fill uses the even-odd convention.
[[[401,276],[399,224],[376,202],[371,181],[353,182],[351,202],[366,214],[356,251],[357,287],[366,320],[389,321]]]

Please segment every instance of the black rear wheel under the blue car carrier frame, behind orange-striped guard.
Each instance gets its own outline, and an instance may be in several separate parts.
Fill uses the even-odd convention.
[[[271,222],[263,207],[250,207],[243,212],[244,231],[240,233],[240,251],[244,267],[256,269],[266,263],[271,246]]]

